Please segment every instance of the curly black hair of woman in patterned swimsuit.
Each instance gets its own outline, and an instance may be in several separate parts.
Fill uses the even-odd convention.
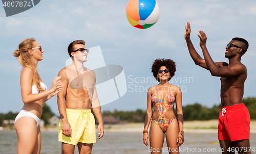
[[[160,69],[160,67],[165,66],[167,69],[169,69],[169,73],[170,73],[170,78],[168,79],[168,81],[170,79],[172,79],[172,77],[175,75],[176,72],[176,63],[173,60],[170,59],[156,59],[153,64],[152,64],[152,68],[151,68],[151,72],[153,73],[155,79],[160,82],[159,78],[157,78],[157,74],[158,74],[158,69]]]

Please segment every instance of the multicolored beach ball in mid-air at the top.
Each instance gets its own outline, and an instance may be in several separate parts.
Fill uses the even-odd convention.
[[[159,18],[159,6],[156,0],[131,0],[126,5],[128,21],[136,28],[147,29]]]

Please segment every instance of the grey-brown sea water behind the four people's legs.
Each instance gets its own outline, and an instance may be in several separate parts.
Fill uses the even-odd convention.
[[[137,132],[108,132],[97,140],[93,145],[92,153],[114,154],[114,153],[150,153],[150,146],[145,146],[142,142],[142,133]],[[61,152],[61,142],[58,142],[57,132],[41,132],[41,153],[59,154]],[[256,146],[256,134],[250,134],[250,146]],[[255,147],[256,148],[256,147]],[[254,148],[254,150],[256,150]],[[17,150],[17,134],[15,131],[0,131],[0,154],[13,154]],[[164,141],[162,153],[169,150]],[[180,147],[180,153],[221,153],[217,133],[185,133],[184,144]],[[78,153],[77,146],[75,153]],[[251,151],[251,153],[256,153]]]

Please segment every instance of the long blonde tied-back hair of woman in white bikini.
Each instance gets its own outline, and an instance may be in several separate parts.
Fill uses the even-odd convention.
[[[23,67],[30,67],[33,72],[34,72],[34,78],[33,81],[36,84],[36,87],[39,91],[44,91],[44,89],[42,89],[41,85],[40,85],[40,76],[37,72],[37,66],[35,66],[31,60],[31,57],[28,53],[29,49],[32,49],[32,45],[33,42],[35,42],[36,40],[34,38],[28,38],[25,39],[24,41],[22,41],[21,43],[19,43],[18,45],[18,49],[16,49],[13,53],[14,57],[18,58],[19,63],[23,66]]]

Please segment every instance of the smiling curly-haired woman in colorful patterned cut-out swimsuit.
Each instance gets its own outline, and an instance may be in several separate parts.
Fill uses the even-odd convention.
[[[170,59],[156,59],[152,65],[153,75],[160,83],[147,91],[147,110],[143,130],[143,143],[146,146],[150,143],[151,153],[161,153],[161,151],[179,153],[179,146],[184,142],[181,89],[168,82],[175,71],[176,64]],[[175,102],[177,115],[174,111]],[[147,129],[150,123],[149,137]],[[164,134],[168,148],[162,148]]]

